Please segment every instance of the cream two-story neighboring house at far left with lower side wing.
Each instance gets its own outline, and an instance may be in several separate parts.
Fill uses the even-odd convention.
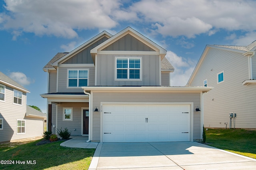
[[[42,136],[46,114],[26,105],[26,93],[0,72],[0,142]]]

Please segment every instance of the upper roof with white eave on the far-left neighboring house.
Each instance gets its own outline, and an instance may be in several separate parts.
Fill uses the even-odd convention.
[[[0,71],[0,83],[10,86],[14,89],[23,91],[25,93],[30,93],[30,91],[28,91],[28,89],[26,89],[25,87],[23,87],[22,85],[20,85],[19,83],[17,83],[13,79],[11,79],[10,77],[8,77],[4,73],[2,73],[1,71]]]

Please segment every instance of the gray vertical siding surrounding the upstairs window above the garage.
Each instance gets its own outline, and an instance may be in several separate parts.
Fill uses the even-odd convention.
[[[142,57],[141,76],[139,81],[115,81],[115,57]],[[98,55],[97,57],[97,85],[98,86],[159,86],[159,55]]]

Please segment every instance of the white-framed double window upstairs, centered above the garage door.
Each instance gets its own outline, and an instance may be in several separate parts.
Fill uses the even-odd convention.
[[[116,79],[140,79],[140,58],[116,58]]]

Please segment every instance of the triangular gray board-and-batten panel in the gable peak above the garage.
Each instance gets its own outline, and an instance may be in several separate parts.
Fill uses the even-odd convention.
[[[118,39],[116,42],[108,45],[102,51],[155,51],[148,45],[142,43],[130,34]]]

